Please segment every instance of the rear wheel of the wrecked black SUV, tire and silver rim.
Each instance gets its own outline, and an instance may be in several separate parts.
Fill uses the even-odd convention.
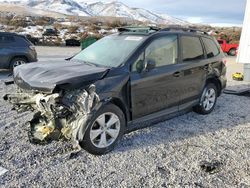
[[[211,102],[213,98],[206,97],[206,94],[207,94],[208,91],[214,91],[213,104]],[[194,107],[194,111],[196,113],[202,114],[202,115],[210,114],[214,110],[214,107],[215,107],[216,102],[217,102],[217,97],[218,97],[218,89],[217,89],[217,87],[213,83],[208,83],[204,87],[204,89],[202,91],[201,98],[200,98],[200,102],[199,102],[199,104],[197,106]],[[211,101],[209,99],[211,99]]]

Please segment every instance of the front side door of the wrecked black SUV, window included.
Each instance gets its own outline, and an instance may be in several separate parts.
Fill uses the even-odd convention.
[[[149,71],[138,71],[139,62],[154,61]],[[134,62],[131,71],[131,110],[133,119],[169,109],[178,110],[180,101],[178,36],[166,35],[153,40]]]

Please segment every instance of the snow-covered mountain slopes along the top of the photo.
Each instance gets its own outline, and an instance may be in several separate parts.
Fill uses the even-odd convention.
[[[26,7],[53,11],[65,15],[124,17],[155,24],[189,24],[186,21],[166,14],[157,14],[141,8],[131,8],[124,3],[117,1],[88,2],[84,0],[0,0],[0,2],[23,5]]]

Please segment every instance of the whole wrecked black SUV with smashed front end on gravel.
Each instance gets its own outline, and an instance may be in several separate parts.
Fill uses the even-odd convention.
[[[205,32],[119,28],[68,61],[17,67],[20,92],[4,99],[36,112],[30,140],[58,135],[104,154],[125,132],[190,109],[209,114],[226,86],[224,63]]]

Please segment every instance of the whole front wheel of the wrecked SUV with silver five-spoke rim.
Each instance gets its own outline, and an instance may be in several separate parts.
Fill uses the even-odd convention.
[[[125,117],[117,106],[103,106],[90,120],[84,139],[83,149],[94,155],[111,151],[125,131]]]

